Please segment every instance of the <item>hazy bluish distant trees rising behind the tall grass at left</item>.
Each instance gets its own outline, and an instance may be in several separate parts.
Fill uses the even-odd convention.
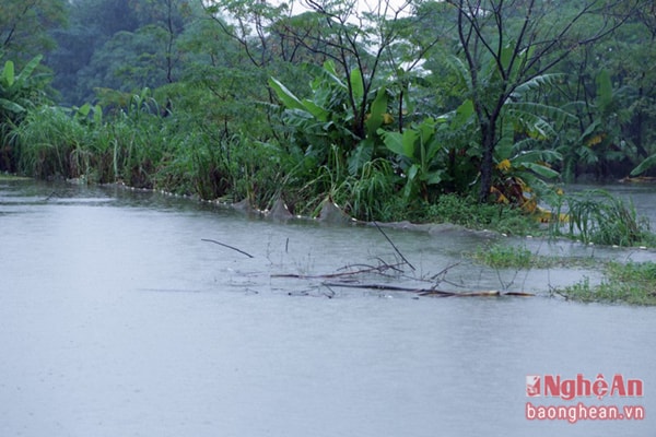
[[[68,10],[71,26],[55,33],[60,47],[46,63],[73,105],[93,101],[95,88],[134,92],[177,80],[186,57],[179,43],[201,13],[184,0],[84,0]]]

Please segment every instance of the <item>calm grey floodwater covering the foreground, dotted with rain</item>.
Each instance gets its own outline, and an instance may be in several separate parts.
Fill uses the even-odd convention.
[[[586,272],[476,265],[462,253],[487,234],[386,229],[414,270],[309,277],[399,253],[373,227],[16,180],[0,181],[0,229],[1,436],[656,436],[656,309],[549,296]],[[537,296],[325,285],[422,287],[434,275],[441,288]],[[579,374],[640,379],[642,397],[546,395],[548,378]],[[542,397],[526,394],[532,375]],[[527,420],[529,402],[645,417]]]

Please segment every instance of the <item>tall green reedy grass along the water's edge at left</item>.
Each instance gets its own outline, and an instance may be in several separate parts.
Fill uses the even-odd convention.
[[[248,197],[260,208],[281,190],[284,160],[276,146],[248,135],[214,135],[188,116],[164,116],[152,106],[136,98],[129,110],[102,122],[60,107],[36,109],[12,132],[19,170],[202,199]]]

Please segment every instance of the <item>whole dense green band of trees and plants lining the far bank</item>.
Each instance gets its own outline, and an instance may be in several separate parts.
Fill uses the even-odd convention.
[[[72,107],[61,110],[78,123],[95,114],[84,129],[115,130],[113,153],[68,141],[60,163],[96,156],[114,163],[98,179],[202,197],[284,196],[312,209],[330,196],[354,215],[380,216],[395,202],[411,210],[457,192],[530,210],[559,181],[656,166],[652,1],[291,5],[8,1],[3,60],[17,69],[43,54],[51,97]],[[17,120],[45,122],[15,117],[5,101],[15,121],[5,141],[28,137],[7,133]],[[121,143],[120,127],[151,132],[150,143],[137,146],[136,131]]]

